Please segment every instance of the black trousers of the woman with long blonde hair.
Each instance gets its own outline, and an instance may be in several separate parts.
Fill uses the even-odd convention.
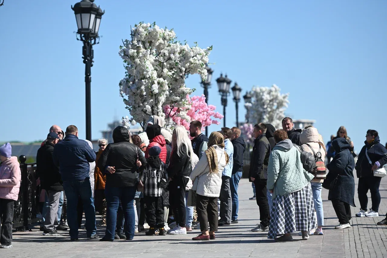
[[[185,219],[187,212],[185,210],[185,187],[188,183],[186,177],[173,177],[169,184],[170,190],[170,206],[173,211],[173,216],[176,218],[176,224],[180,227],[185,227]]]

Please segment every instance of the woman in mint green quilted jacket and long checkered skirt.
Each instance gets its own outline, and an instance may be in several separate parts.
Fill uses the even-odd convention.
[[[314,176],[302,167],[300,151],[288,139],[284,130],[274,132],[273,148],[267,168],[267,189],[273,193],[269,224],[269,239],[293,241],[290,233],[301,231],[302,239],[317,226],[312,188]],[[277,237],[277,235],[283,235]]]

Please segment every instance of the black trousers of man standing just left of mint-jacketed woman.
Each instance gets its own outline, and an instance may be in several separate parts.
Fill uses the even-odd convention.
[[[267,202],[267,179],[255,179],[255,196],[257,197],[257,205],[259,206],[260,224],[264,227],[269,226],[270,210]]]

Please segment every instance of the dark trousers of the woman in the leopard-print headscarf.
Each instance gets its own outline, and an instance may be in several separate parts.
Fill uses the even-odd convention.
[[[202,232],[208,230],[208,223],[210,224],[210,231],[217,231],[217,200],[217,197],[207,197],[200,194],[196,195],[196,212],[200,222],[200,230]]]

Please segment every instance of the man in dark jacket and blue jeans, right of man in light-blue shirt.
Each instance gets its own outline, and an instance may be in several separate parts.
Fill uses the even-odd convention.
[[[243,171],[243,153],[246,150],[245,140],[240,137],[241,130],[238,127],[231,128],[231,143],[234,146],[233,170],[231,172],[230,189],[232,200],[231,223],[238,223],[238,185]]]

